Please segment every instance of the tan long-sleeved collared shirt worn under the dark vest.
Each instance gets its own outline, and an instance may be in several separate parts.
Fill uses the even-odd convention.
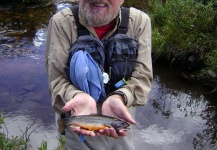
[[[110,37],[116,30],[121,16],[115,27],[102,39]],[[81,24],[82,23],[82,19]],[[90,34],[98,38],[91,26],[85,26]],[[152,59],[151,59],[151,20],[149,16],[135,8],[130,8],[127,35],[139,42],[138,56],[134,71],[127,85],[118,89],[127,98],[127,106],[144,105],[151,90]],[[69,79],[68,65],[70,48],[77,40],[77,26],[69,8],[55,14],[49,23],[46,40],[46,67],[49,79],[49,91],[52,96],[52,106],[57,112],[73,96],[81,92],[76,89]]]

